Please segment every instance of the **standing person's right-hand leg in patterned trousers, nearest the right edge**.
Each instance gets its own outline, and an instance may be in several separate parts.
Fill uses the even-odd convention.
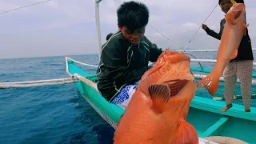
[[[241,83],[242,101],[246,112],[250,112],[252,74],[253,61],[238,62],[238,78]]]

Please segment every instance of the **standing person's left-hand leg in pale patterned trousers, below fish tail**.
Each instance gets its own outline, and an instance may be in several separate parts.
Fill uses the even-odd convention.
[[[237,63],[230,62],[224,70],[224,97],[226,100],[226,107],[221,112],[226,112],[232,107],[232,101],[234,97],[234,87],[237,81]]]

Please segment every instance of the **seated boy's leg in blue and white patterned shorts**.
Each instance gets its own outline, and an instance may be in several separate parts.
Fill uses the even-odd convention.
[[[127,106],[132,98],[137,85],[127,85],[122,88],[121,92],[116,96],[111,103],[121,107],[123,110],[127,109]]]

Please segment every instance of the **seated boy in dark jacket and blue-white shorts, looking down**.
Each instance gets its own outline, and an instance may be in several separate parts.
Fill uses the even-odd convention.
[[[162,49],[144,36],[149,10],[141,2],[124,2],[117,10],[118,32],[102,46],[98,90],[107,101],[126,110],[137,82]]]

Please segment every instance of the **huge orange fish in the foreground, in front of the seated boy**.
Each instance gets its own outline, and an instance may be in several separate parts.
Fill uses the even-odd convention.
[[[118,122],[114,144],[198,144],[198,134],[186,122],[197,89],[190,58],[164,51],[138,83]]]

